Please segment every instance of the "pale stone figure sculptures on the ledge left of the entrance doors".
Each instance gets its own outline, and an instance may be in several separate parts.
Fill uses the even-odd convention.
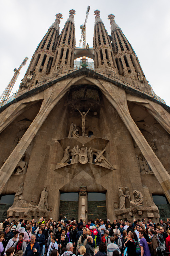
[[[27,203],[24,200],[24,197],[22,196],[22,193],[24,191],[24,187],[23,186],[24,186],[24,182],[22,182],[19,185],[19,187],[17,189],[17,192],[15,193],[13,205],[10,207],[10,209],[22,207],[22,206],[24,206],[23,204]],[[38,205],[35,206],[35,205],[29,204],[29,207],[37,208],[39,210],[52,211],[51,208],[50,209],[48,208],[47,197],[48,197],[47,187],[44,187],[43,190],[41,191],[40,202],[38,203]]]

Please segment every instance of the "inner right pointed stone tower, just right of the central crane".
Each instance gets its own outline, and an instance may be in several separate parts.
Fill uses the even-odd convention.
[[[100,11],[94,11],[95,23],[94,23],[94,66],[95,68],[112,68],[116,70],[114,55],[112,51],[112,45],[109,35],[105,26],[100,18]]]

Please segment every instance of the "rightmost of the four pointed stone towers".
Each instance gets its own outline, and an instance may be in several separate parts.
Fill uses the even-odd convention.
[[[110,19],[113,51],[119,74],[139,80],[141,83],[148,83],[138,57],[120,27],[115,23],[114,17],[110,14],[108,19]]]

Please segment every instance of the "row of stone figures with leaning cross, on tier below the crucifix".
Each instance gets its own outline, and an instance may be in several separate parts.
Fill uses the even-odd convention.
[[[71,164],[77,162],[84,164],[89,162],[105,168],[114,169],[113,165],[103,155],[105,151],[105,149],[100,151],[91,147],[88,149],[87,147],[84,147],[84,144],[82,144],[81,148],[79,148],[78,145],[76,147],[74,146],[72,149],[70,149],[70,146],[67,146],[60,163],[70,163],[71,159]]]

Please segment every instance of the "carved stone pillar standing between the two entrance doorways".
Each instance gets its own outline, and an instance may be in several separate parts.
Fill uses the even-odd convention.
[[[88,198],[87,198],[87,187],[81,186],[79,197],[78,197],[78,222],[80,221],[80,218],[83,219],[83,221],[87,222],[87,204],[88,204]]]

